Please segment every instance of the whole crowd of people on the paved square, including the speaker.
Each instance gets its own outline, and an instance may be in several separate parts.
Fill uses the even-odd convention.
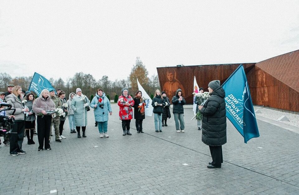
[[[225,92],[218,80],[211,81],[208,87],[211,97],[203,105],[197,106],[197,112],[201,112],[203,115],[202,121],[197,121],[197,127],[198,130],[202,130],[203,143],[210,147],[212,161],[207,167],[221,168],[221,163],[223,163],[222,145],[226,143]],[[203,88],[200,90],[203,92]],[[63,129],[67,117],[70,133],[77,133],[77,137],[81,138],[82,130],[82,137],[86,138],[87,112],[90,107],[94,111],[100,138],[109,137],[107,134],[108,116],[112,115],[112,108],[103,89],[97,89],[95,97],[91,101],[82,93],[80,88],[76,89],[76,93],[70,93],[68,100],[65,96],[66,93],[60,89],[57,89],[56,92],[55,89],[50,91],[44,89],[40,96],[35,99],[34,94],[30,91],[25,92],[20,86],[12,84],[7,86],[6,93],[0,92],[0,102],[6,102],[14,108],[0,112],[0,117],[8,116],[15,120],[11,132],[4,136],[3,141],[4,145],[10,146],[10,155],[26,154],[22,150],[24,135],[27,137],[28,145],[35,144],[33,136],[36,134],[36,129],[39,142],[38,151],[51,150],[52,126],[55,130],[55,142],[61,143],[63,139],[66,139],[66,136],[63,135]],[[167,119],[171,117],[169,109],[171,104],[173,105],[176,132],[185,132],[183,105],[186,104],[186,100],[181,89],[177,89],[171,101],[164,91],[155,91],[152,100],[155,132],[162,132],[162,127],[168,126]],[[144,133],[142,122],[145,119],[146,103],[142,92],[137,91],[133,98],[129,95],[128,89],[123,88],[117,105],[119,106],[122,135],[132,135],[130,123],[133,119],[133,108],[137,133]],[[0,109],[3,108],[5,107],[0,107]]]

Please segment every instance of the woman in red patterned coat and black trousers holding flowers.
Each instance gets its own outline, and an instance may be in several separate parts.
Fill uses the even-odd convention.
[[[117,105],[119,106],[119,119],[121,120],[123,136],[132,135],[130,133],[130,123],[131,119],[133,119],[133,109],[134,100],[128,94],[127,88],[121,89],[121,96],[118,97]]]

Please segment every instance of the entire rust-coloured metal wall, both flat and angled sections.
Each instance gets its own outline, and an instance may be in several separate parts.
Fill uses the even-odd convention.
[[[157,68],[160,86],[171,99],[178,88],[187,103],[193,103],[193,79],[208,91],[212,80],[225,80],[240,64],[216,64]],[[243,64],[252,102],[283,110],[299,112],[299,50],[259,63]]]

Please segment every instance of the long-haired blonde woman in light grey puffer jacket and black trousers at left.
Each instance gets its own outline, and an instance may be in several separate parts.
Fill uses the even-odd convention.
[[[26,154],[26,152],[22,150],[22,144],[25,131],[25,113],[29,112],[29,109],[26,107],[25,102],[22,102],[22,88],[20,86],[14,86],[12,89],[12,94],[6,96],[5,100],[8,104],[12,105],[12,108],[16,109],[14,113],[15,123],[12,126],[12,132],[9,134],[9,153],[12,156]],[[8,115],[12,115],[14,110],[7,110],[6,112]]]

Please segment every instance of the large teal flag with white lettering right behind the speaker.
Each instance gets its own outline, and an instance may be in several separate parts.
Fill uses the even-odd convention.
[[[222,84],[225,91],[226,117],[244,137],[244,142],[259,137],[249,86],[241,64]]]

